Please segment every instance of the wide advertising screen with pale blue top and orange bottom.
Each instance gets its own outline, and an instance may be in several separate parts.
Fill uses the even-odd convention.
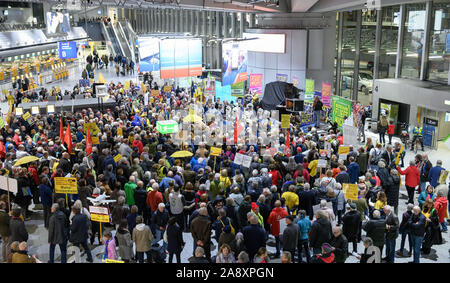
[[[163,39],[160,42],[161,79],[202,75],[201,39]]]

